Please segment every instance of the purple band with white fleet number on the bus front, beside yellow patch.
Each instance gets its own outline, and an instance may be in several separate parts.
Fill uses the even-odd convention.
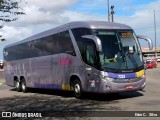
[[[136,73],[124,73],[124,74],[108,73],[108,77],[115,79],[133,79],[136,78]]]

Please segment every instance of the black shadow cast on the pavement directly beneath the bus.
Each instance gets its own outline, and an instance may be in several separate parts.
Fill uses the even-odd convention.
[[[11,91],[16,91],[14,88]],[[28,93],[36,93],[39,95],[59,96],[62,98],[74,98],[74,93],[71,91],[61,91],[52,89],[35,89],[30,88]],[[94,100],[94,101],[105,101],[112,102],[120,99],[127,99],[133,97],[143,96],[140,92],[123,92],[123,93],[112,93],[112,94],[96,94],[96,93],[84,93],[82,100]]]

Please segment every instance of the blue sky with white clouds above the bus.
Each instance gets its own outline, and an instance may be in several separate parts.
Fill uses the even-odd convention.
[[[160,46],[160,0],[110,0],[114,5],[114,21],[131,26],[137,35],[148,36]],[[6,39],[0,44],[0,59],[5,45],[72,21],[108,21],[107,0],[25,0],[20,7],[26,15],[4,25],[0,35]],[[145,42],[140,42],[147,46]]]

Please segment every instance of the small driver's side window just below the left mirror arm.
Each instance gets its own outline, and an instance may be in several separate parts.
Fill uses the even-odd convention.
[[[95,52],[95,46],[93,44],[87,44],[86,45],[86,62],[89,65],[95,65],[96,64],[96,52]]]

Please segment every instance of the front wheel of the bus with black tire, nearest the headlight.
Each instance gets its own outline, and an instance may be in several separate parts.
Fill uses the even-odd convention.
[[[82,85],[79,79],[76,79],[74,81],[74,95],[76,98],[81,99],[82,98]]]

